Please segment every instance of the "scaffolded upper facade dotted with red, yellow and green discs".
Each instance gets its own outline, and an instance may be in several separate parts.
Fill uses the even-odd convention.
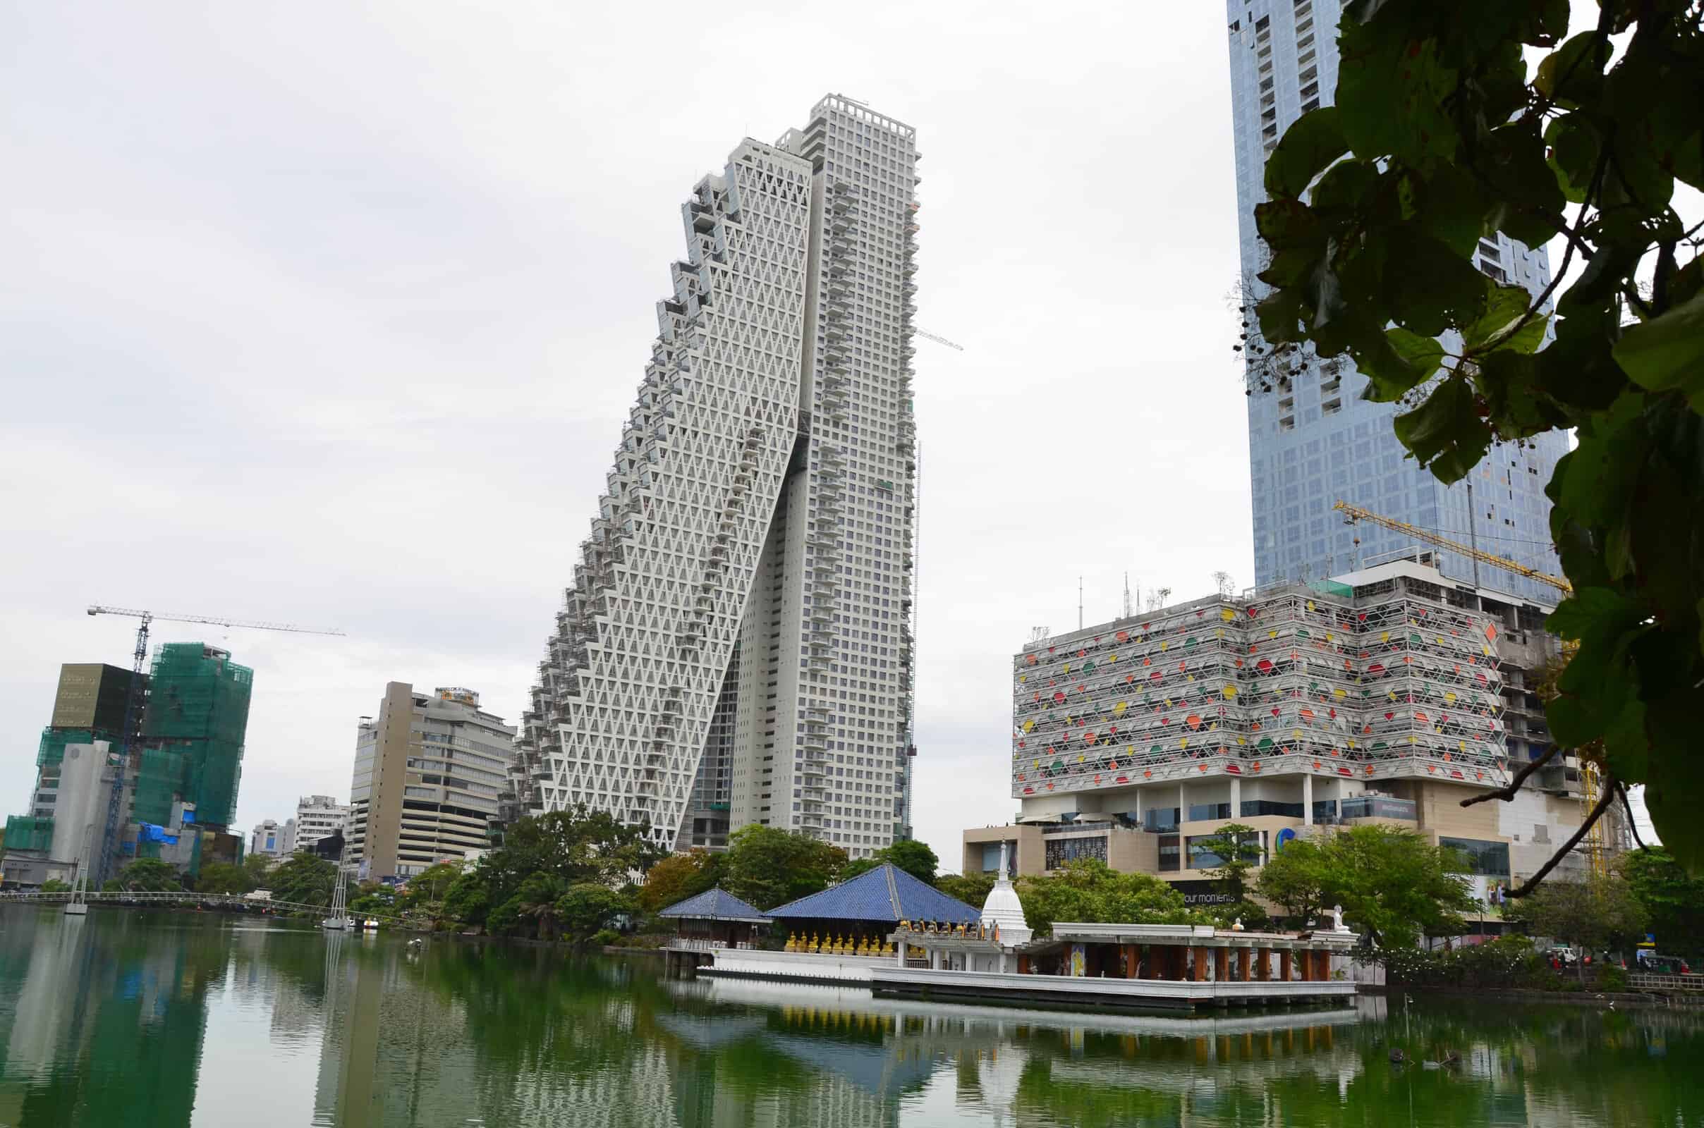
[[[1419,586],[1278,584],[1031,642],[1012,791],[1205,775],[1508,780],[1496,627]]]

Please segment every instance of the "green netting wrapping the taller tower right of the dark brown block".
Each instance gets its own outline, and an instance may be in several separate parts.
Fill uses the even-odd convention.
[[[201,642],[167,642],[148,680],[145,738],[182,755],[181,789],[196,821],[228,826],[237,811],[254,671]]]

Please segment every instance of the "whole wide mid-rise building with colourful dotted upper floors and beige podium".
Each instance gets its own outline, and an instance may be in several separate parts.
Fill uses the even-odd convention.
[[[1227,823],[1264,862],[1281,837],[1384,821],[1459,849],[1486,889],[1530,876],[1580,826],[1578,760],[1513,803],[1460,801],[1549,746],[1532,695],[1559,651],[1549,610],[1418,552],[1031,642],[1012,671],[1021,809],[964,832],[964,872],[1005,843],[1019,876],[1089,857],[1208,898],[1201,842]]]

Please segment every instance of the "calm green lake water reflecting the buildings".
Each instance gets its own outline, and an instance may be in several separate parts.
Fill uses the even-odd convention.
[[[1454,1050],[1459,1068],[1392,1067]],[[1361,1000],[1135,1019],[0,906],[0,1126],[1704,1125],[1704,1024]]]

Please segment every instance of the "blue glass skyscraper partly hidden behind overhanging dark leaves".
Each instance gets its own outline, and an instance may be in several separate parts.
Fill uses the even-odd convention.
[[[1242,276],[1263,269],[1254,204],[1264,199],[1266,157],[1297,118],[1329,106],[1338,89],[1339,0],[1227,0],[1230,99],[1237,147],[1237,230]],[[1476,264],[1488,276],[1539,293],[1551,281],[1544,247],[1491,233]],[[1259,291],[1259,283],[1254,283]],[[1254,319],[1249,317],[1252,322]],[[1290,387],[1249,397],[1249,484],[1254,499],[1254,581],[1322,579],[1408,549],[1372,523],[1344,527],[1338,499],[1438,530],[1484,552],[1559,574],[1544,486],[1568,436],[1525,446],[1500,443],[1464,481],[1445,487],[1421,470],[1390,431],[1399,404],[1360,399],[1365,378],[1346,356],[1315,363]],[[1360,544],[1356,544],[1356,537]],[[1510,573],[1479,574],[1471,559],[1440,552],[1454,579],[1486,583],[1540,603],[1556,590]]]

